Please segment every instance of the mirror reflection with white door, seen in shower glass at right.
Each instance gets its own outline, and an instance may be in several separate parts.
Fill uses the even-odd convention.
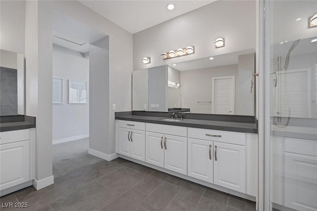
[[[271,116],[317,118],[316,37],[281,42],[273,48]]]

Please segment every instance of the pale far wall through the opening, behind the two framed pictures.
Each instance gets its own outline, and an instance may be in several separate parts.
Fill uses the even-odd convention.
[[[53,140],[89,134],[89,60],[53,45],[53,78],[63,79],[63,103],[53,104]],[[68,80],[87,82],[87,104],[68,103]]]

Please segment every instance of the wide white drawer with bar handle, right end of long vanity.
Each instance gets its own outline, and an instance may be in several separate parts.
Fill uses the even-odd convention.
[[[188,137],[230,144],[246,145],[246,134],[214,129],[188,127]]]

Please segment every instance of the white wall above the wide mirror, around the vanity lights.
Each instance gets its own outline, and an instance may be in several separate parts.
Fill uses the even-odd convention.
[[[215,48],[217,38],[225,46]],[[211,55],[255,48],[256,1],[218,0],[194,11],[158,24],[133,35],[133,69],[172,64]],[[162,52],[195,46],[195,53],[163,60]],[[142,62],[144,56],[151,63]]]

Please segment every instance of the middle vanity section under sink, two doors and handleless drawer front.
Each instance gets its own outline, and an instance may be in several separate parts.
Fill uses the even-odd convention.
[[[187,174],[187,127],[147,123],[146,128],[146,162]]]

